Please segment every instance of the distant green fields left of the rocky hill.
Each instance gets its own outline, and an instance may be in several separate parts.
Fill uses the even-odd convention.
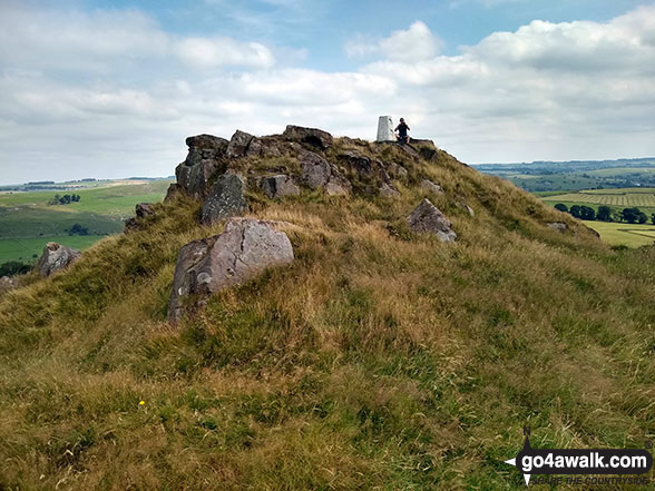
[[[107,235],[123,230],[137,203],[160,202],[168,180],[102,181],[71,190],[0,194],[0,263],[33,262],[48,242],[85,249]],[[48,205],[56,194],[78,194],[79,203]],[[70,236],[79,224],[89,235]]]

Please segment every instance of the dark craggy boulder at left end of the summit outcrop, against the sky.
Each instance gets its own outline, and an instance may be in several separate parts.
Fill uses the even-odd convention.
[[[188,155],[175,168],[177,186],[194,198],[202,198],[209,192],[209,179],[226,170],[225,153],[229,143],[212,135],[198,135],[186,139]]]

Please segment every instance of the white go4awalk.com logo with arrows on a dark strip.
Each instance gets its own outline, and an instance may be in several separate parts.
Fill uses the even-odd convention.
[[[645,474],[653,467],[653,456],[639,449],[532,449],[530,430],[524,428],[524,448],[514,459],[505,463],[516,465],[524,474],[526,485],[532,474],[614,474],[615,478],[559,478],[561,483],[578,484],[645,484]],[[624,477],[632,474],[632,477]],[[548,483],[557,483],[553,480]]]

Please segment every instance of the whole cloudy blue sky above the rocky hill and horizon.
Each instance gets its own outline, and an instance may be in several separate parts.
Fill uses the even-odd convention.
[[[0,0],[0,184],[169,176],[189,135],[655,156],[655,1]]]

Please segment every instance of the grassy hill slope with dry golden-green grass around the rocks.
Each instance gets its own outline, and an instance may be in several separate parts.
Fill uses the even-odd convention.
[[[525,489],[502,463],[524,425],[539,448],[653,438],[654,247],[613,251],[442,151],[325,157],[352,147],[409,170],[400,197],[251,189],[296,259],[177,327],[177,252],[223,227],[184,196],[0,297],[0,489]],[[408,229],[426,196],[456,243]]]

